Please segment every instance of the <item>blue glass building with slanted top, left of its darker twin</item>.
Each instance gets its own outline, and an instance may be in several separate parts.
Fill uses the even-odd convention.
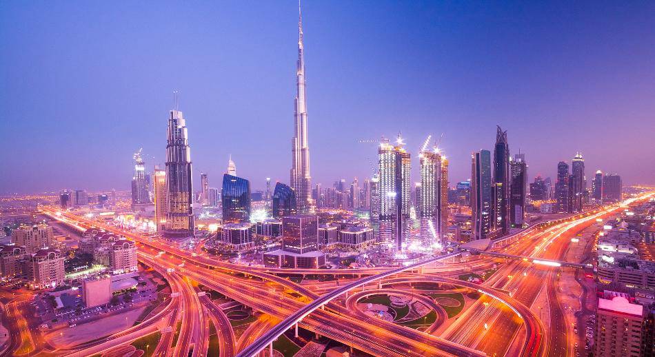
[[[223,223],[250,221],[250,181],[223,174]]]

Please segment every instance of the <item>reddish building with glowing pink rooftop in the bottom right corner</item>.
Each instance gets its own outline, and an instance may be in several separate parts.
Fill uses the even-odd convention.
[[[604,295],[607,295],[607,291]],[[649,356],[641,351],[645,312],[642,305],[630,303],[625,296],[598,298],[594,356]],[[652,346],[649,346],[652,353]]]

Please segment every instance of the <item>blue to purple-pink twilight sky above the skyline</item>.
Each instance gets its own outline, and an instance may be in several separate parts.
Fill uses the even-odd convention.
[[[219,187],[230,153],[254,189],[288,182],[297,16],[294,1],[2,1],[0,193],[127,190],[139,147],[163,164],[173,90],[196,187],[200,172]],[[372,174],[359,140],[402,132],[415,156],[443,133],[454,185],[498,124],[530,181],[581,151],[587,178],[655,184],[654,18],[652,1],[305,1],[313,181]]]

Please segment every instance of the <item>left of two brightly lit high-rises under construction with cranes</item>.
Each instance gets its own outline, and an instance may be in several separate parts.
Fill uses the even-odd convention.
[[[410,237],[410,153],[399,136],[396,145],[383,138],[378,150],[380,175],[380,239],[401,250]]]

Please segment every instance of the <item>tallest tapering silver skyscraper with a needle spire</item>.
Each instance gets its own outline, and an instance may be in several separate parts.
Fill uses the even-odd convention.
[[[311,195],[312,177],[310,176],[310,147],[307,134],[304,50],[303,17],[300,14],[298,20],[298,61],[296,63],[295,125],[291,148],[291,187],[298,198],[299,212],[308,213],[314,211],[314,202]]]

